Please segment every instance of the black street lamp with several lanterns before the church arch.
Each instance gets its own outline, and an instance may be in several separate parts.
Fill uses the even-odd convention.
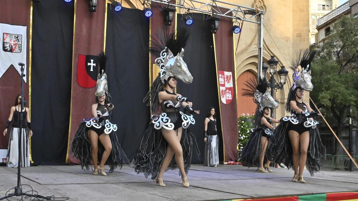
[[[267,63],[269,64],[269,67],[262,64],[263,79],[266,80],[266,72],[267,72],[267,70],[269,70],[271,77],[270,77],[269,81],[267,81],[267,84],[269,85],[269,88],[271,89],[271,96],[274,97],[274,89],[277,92],[278,89],[282,90],[284,88],[284,85],[286,84],[287,74],[289,72],[285,69],[284,66],[281,66],[281,69],[277,71],[277,74],[279,74],[279,83],[277,83],[274,76],[276,74],[276,67],[277,67],[277,64],[279,63],[279,61],[277,59],[275,59],[274,55],[272,55],[271,59],[268,60]],[[274,111],[272,109],[271,109],[271,118],[274,118]]]

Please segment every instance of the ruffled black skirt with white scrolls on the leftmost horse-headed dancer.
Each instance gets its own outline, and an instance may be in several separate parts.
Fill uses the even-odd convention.
[[[109,124],[110,122],[109,123],[108,122],[107,125],[110,125]],[[88,139],[87,137],[88,136],[87,132],[89,129],[91,130],[101,129],[101,128],[96,128],[98,127],[97,125],[96,127],[92,128],[93,125],[90,125],[90,123],[93,123],[93,119],[83,119],[81,124],[79,124],[76,133],[74,133],[71,143],[71,154],[73,155],[74,158],[77,158],[79,160],[79,164],[81,165],[81,168],[83,169],[83,167],[86,167],[86,170],[89,170],[89,165],[92,161],[92,151],[91,151],[92,144],[90,139]],[[111,125],[115,125],[115,124],[111,123]],[[131,167],[127,156],[125,155],[124,151],[121,148],[121,145],[118,142],[118,138],[115,133],[116,130],[117,130],[116,127],[115,129],[105,128],[105,131],[107,132],[104,133],[109,135],[112,142],[112,151],[106,161],[106,165],[110,166],[110,172],[113,172],[118,166],[120,168],[122,168],[123,165],[127,165]],[[105,148],[100,142],[98,142],[98,158],[97,158],[98,164],[102,159],[102,155],[104,151]]]

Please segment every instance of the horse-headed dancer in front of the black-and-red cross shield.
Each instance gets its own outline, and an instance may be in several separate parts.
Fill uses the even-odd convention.
[[[110,166],[113,172],[117,166],[129,165],[130,162],[123,152],[115,133],[117,125],[110,122],[111,111],[114,108],[111,103],[111,96],[108,93],[107,75],[105,73],[106,60],[105,54],[100,54],[100,73],[97,77],[96,100],[92,105],[93,118],[83,119],[78,126],[72,139],[71,153],[79,160],[83,169],[85,166],[89,170],[91,160],[95,170],[93,175],[106,176],[104,171],[105,164]],[[98,143],[98,140],[100,143]],[[100,162],[98,164],[98,162]]]

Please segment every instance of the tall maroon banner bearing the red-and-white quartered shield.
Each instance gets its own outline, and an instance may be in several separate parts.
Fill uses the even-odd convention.
[[[232,19],[222,18],[214,36],[224,162],[237,160],[237,99]]]

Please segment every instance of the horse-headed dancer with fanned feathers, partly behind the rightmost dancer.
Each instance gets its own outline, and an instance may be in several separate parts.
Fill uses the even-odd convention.
[[[270,108],[277,108],[278,103],[269,94],[265,80],[260,79],[257,84],[256,79],[251,79],[245,85],[248,89],[243,89],[244,93],[242,95],[254,97],[257,108],[253,122],[255,128],[252,129],[250,138],[242,149],[241,162],[243,166],[257,166],[258,172],[272,172],[270,169],[271,161],[266,159],[265,165],[263,163],[266,148],[272,135],[272,128],[274,128],[273,123],[280,123],[279,120],[269,117]]]

